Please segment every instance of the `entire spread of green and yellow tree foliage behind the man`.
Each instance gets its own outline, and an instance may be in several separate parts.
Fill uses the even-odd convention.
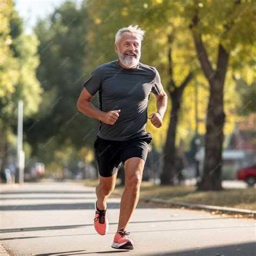
[[[82,84],[96,66],[118,58],[113,49],[117,30],[138,24],[146,30],[141,62],[159,70],[165,91],[170,81],[170,45],[176,83],[180,84],[190,71],[195,74],[184,91],[177,132],[177,143],[182,139],[188,149],[196,129],[195,87],[198,86],[200,134],[205,133],[209,95],[207,79],[200,70],[189,29],[197,11],[200,19],[198,28],[213,69],[217,66],[219,42],[230,51],[224,95],[227,114],[224,131],[230,133],[239,116],[241,105],[238,103],[245,105],[252,100],[250,97],[253,97],[255,87],[246,85],[244,91],[248,93],[241,96],[242,87],[240,84],[236,87],[233,79],[233,76],[240,77],[245,84],[253,85],[255,77],[256,24],[252,22],[255,3],[249,0],[240,2],[236,5],[231,0],[91,0],[83,1],[80,9],[74,2],[64,2],[50,18],[38,22],[36,36],[28,36],[22,32],[22,22],[12,10],[13,2],[8,1],[7,7],[1,10],[4,16],[0,25],[1,119],[15,118],[16,99],[23,98],[26,116],[35,113],[26,120],[24,127],[33,154],[40,154],[51,161],[55,158],[53,151],[62,152],[63,147],[75,147],[76,150],[85,145],[92,147],[99,123],[77,110]],[[39,95],[42,91],[41,102]],[[92,103],[98,105],[97,96]],[[169,103],[161,130],[150,122],[147,124],[147,131],[152,133],[158,151],[165,144],[170,107]],[[248,107],[247,110],[253,109]],[[148,114],[155,111],[156,100],[151,95]]]

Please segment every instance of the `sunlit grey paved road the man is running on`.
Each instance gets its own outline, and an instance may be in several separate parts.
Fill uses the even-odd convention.
[[[111,248],[119,198],[109,198],[109,233],[93,228],[95,189],[32,183],[1,193],[1,242],[14,255],[256,255],[255,221],[137,206],[128,231],[133,251]],[[114,254],[113,254],[114,253]]]

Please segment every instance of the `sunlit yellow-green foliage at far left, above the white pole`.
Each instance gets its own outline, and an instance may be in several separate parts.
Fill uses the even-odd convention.
[[[0,90],[2,93],[0,118],[2,122],[14,125],[17,119],[18,100],[24,101],[26,118],[37,111],[41,89],[35,76],[39,64],[37,37],[25,35],[22,19],[14,10],[12,14],[8,19],[9,31],[5,35],[10,43],[8,43],[8,52],[4,53],[3,74],[0,74],[1,89],[3,89]],[[6,79],[9,79],[8,82]]]

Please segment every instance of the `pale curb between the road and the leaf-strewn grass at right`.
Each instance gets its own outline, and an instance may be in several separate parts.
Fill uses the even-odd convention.
[[[164,199],[149,198],[149,197],[140,197],[140,199],[147,202],[151,201],[153,203],[167,204],[169,206],[184,206],[191,209],[214,210],[214,211],[220,211],[220,212],[226,212],[226,213],[240,213],[240,214],[252,214],[252,215],[256,213],[256,211],[232,208],[232,207],[191,204],[191,203],[183,203],[179,201],[164,200]]]

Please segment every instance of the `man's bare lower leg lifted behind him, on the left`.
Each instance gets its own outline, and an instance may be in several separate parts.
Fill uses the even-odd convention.
[[[106,199],[116,186],[117,172],[112,177],[99,176],[99,185],[96,187],[97,208],[106,210]]]

